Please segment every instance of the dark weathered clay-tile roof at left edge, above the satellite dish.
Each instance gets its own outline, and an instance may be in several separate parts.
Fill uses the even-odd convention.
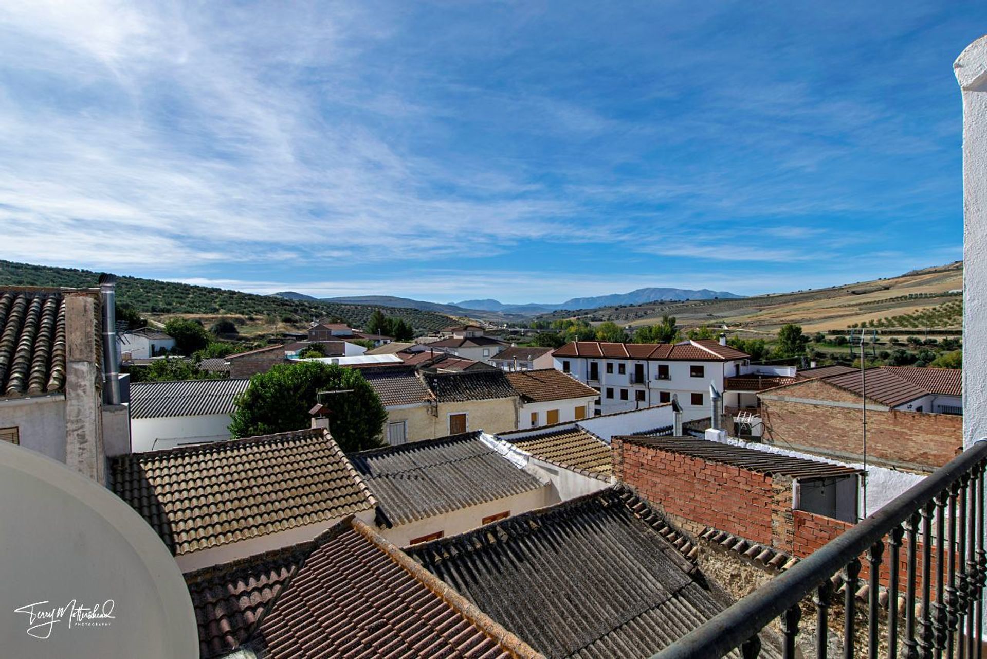
[[[55,290],[3,290],[0,398],[60,391],[64,386],[64,296]]]

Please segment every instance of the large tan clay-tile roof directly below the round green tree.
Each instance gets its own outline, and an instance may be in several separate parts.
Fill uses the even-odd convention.
[[[113,489],[175,555],[373,508],[323,429],[111,460]]]

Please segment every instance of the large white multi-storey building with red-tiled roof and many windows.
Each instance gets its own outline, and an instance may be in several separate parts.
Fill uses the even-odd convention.
[[[678,395],[686,421],[710,413],[710,383],[742,374],[750,356],[725,340],[676,344],[574,341],[552,354],[555,368],[600,392],[602,414],[671,402]]]

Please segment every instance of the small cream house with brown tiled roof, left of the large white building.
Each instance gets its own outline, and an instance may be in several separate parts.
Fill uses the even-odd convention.
[[[593,416],[599,393],[555,369],[508,372],[507,381],[521,394],[518,429],[551,426]]]

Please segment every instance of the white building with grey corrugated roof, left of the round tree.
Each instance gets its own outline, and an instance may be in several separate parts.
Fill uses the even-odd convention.
[[[230,439],[233,401],[250,379],[192,379],[130,384],[134,453]]]

